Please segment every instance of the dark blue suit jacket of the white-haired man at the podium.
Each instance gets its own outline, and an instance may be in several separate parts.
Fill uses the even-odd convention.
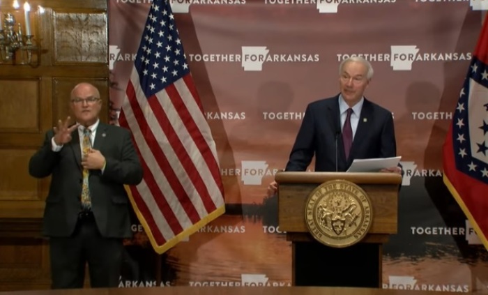
[[[344,172],[354,159],[388,158],[396,154],[391,112],[365,99],[349,159],[346,159],[337,95],[307,106],[285,170],[305,171],[314,155],[316,172],[336,171],[336,156],[337,171]]]

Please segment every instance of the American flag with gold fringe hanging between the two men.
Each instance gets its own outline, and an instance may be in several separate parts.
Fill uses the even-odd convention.
[[[168,1],[151,3],[119,123],[142,161],[130,200],[156,252],[224,213],[215,142]]]

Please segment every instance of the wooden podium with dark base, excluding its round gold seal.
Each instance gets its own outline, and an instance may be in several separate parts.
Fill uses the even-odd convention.
[[[372,203],[372,223],[358,243],[333,248],[310,234],[305,203],[326,181],[345,180],[360,186]],[[381,287],[383,243],[397,233],[398,191],[395,173],[278,172],[278,225],[292,242],[294,286]]]

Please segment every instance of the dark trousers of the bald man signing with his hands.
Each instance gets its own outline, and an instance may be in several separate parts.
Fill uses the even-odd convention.
[[[86,264],[91,287],[119,285],[122,239],[102,237],[93,214],[80,215],[72,236],[49,240],[52,289],[82,288]]]

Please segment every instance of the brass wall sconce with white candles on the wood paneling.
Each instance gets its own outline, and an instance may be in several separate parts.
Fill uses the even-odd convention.
[[[3,15],[3,24],[0,13],[0,64],[39,66],[40,48],[32,42],[30,10],[29,3],[24,3],[25,36],[20,24],[17,24],[15,31],[16,22],[12,13]]]

